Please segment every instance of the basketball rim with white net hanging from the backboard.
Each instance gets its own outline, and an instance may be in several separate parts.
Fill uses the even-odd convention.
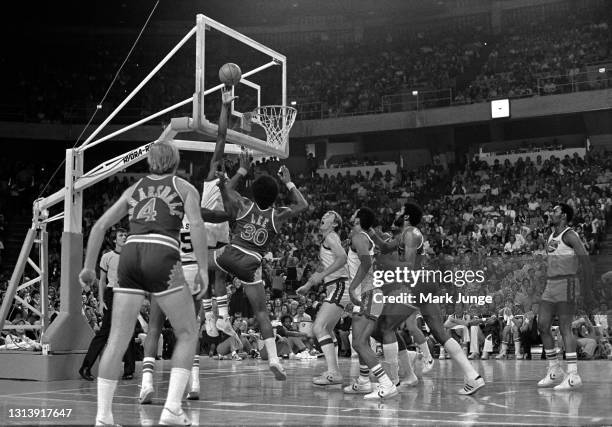
[[[287,145],[296,115],[297,110],[293,107],[262,105],[253,110],[251,121],[264,128],[269,145],[283,149]]]

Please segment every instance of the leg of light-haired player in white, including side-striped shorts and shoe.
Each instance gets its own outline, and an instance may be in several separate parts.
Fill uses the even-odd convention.
[[[344,312],[340,300],[344,294],[344,281],[328,286],[327,298],[317,313],[312,331],[319,341],[319,346],[325,355],[327,371],[312,379],[316,385],[342,384],[342,374],[338,368],[338,353],[334,345],[334,326],[338,323]]]

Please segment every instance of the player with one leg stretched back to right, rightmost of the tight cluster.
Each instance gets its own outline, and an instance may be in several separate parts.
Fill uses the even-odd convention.
[[[406,267],[410,270],[421,268],[424,238],[417,226],[421,222],[423,211],[416,203],[408,202],[404,206],[404,217],[405,222],[410,225],[405,227],[402,234],[392,242],[385,243],[373,230],[371,230],[370,235],[373,236],[376,244],[380,245],[383,252],[397,249],[395,254],[389,253],[377,258],[378,265],[382,269],[394,271],[397,267]],[[429,293],[435,294],[438,290],[436,289],[436,285],[432,283],[421,282],[417,283],[414,287],[407,287],[405,291],[419,295]],[[417,298],[417,303],[415,305],[420,309],[423,319],[429,326],[433,336],[444,346],[444,349],[463,371],[465,384],[463,388],[459,390],[459,394],[471,395],[484,387],[484,379],[474,369],[459,343],[457,343],[444,328],[439,306],[433,303],[420,303],[419,298]],[[397,326],[405,320],[398,316],[384,316],[383,319],[385,322],[388,322],[382,326],[383,330],[395,330]]]

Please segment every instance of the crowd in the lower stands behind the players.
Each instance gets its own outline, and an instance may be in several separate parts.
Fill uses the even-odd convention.
[[[242,190],[248,194],[253,179],[260,174],[274,175],[278,167],[277,160],[254,163]],[[237,164],[228,160],[226,168],[231,175]],[[21,174],[22,171],[17,172]],[[25,177],[27,174],[22,175]],[[357,208],[369,206],[377,213],[378,230],[393,233],[390,225],[405,201],[412,198],[422,203],[425,212],[420,229],[426,236],[426,265],[441,270],[483,270],[486,277],[483,283],[468,283],[460,289],[464,295],[490,296],[493,301],[484,305],[444,307],[445,316],[448,316],[447,326],[457,333],[473,357],[486,358],[491,352],[510,354],[514,342],[522,349],[516,350],[517,355],[530,354],[529,343],[537,342],[534,322],[537,322],[537,304],[545,284],[545,247],[550,235],[547,216],[556,203],[565,202],[572,206],[574,229],[589,253],[598,254],[612,210],[612,190],[607,185],[611,177],[612,158],[600,152],[589,152],[586,158],[566,156],[544,161],[539,156],[534,159],[526,156],[514,164],[507,161],[492,166],[475,161],[461,169],[452,169],[443,163],[412,171],[400,168],[396,175],[376,170],[371,175],[357,172],[355,175],[294,176],[293,180],[307,198],[309,207],[307,212],[279,230],[270,253],[264,258],[263,269],[269,309],[279,335],[279,349],[282,348],[279,354],[287,357],[316,357],[318,354],[308,325],[316,317],[325,290],[319,288],[306,296],[297,296],[295,289],[317,268],[322,215],[333,209],[348,219]],[[31,182],[31,178],[28,175],[27,181]],[[193,178],[197,182],[201,176]],[[12,182],[13,177],[10,179]],[[99,191],[95,194],[86,193],[83,213],[85,241],[95,220],[132,181],[111,178],[98,184]],[[13,194],[12,197],[18,196]],[[287,197],[283,192],[279,203],[286,204]],[[59,309],[61,227],[50,227],[49,232],[49,311],[53,318]],[[347,221],[339,234],[346,241],[349,233]],[[0,277],[2,292],[6,289],[9,273],[6,271]],[[27,280],[23,279],[24,282]],[[576,319],[576,333],[586,340],[583,341],[585,357],[608,354],[607,336],[612,324],[607,322],[607,316],[612,303],[612,280],[605,280],[604,283],[598,280],[595,288],[601,306],[590,310],[588,315],[582,312]],[[449,284],[441,286],[448,292],[459,289]],[[232,342],[222,334],[211,335],[203,322],[203,354],[265,358],[265,354],[259,352],[257,324],[240,284],[228,282],[228,293],[230,314],[234,316],[235,328],[240,331],[241,342]],[[40,293],[37,290],[23,289],[19,295],[39,308]],[[100,322],[96,296],[95,289],[86,289],[83,293],[83,314],[93,329]],[[146,309],[143,313],[146,315]],[[348,345],[349,313],[336,329],[343,355],[351,352]],[[15,303],[9,320],[31,324],[40,321],[20,302]],[[25,334],[34,339],[37,332],[27,331]],[[165,335],[164,354],[167,355],[171,350],[172,333],[166,330]],[[594,346],[589,339],[595,340]],[[483,350],[485,345],[486,350]]]

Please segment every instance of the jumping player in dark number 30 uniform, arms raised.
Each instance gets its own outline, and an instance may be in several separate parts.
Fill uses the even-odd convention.
[[[270,370],[277,380],[285,380],[287,375],[276,354],[274,332],[266,310],[261,260],[281,224],[306,209],[308,203],[291,182],[289,170],[285,166],[281,166],[279,177],[289,189],[294,203],[278,210],[273,207],[278,195],[278,184],[271,176],[263,175],[253,182],[251,189],[254,201],[228,189],[224,182],[220,183],[225,210],[236,218],[236,225],[232,241],[215,251],[214,261],[218,268],[233,274],[245,284],[244,292],[259,322],[268,351]]]

